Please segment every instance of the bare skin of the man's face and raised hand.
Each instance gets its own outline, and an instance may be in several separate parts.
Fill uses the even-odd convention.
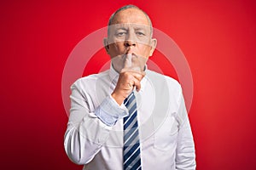
[[[144,66],[156,46],[149,26],[143,11],[127,8],[114,16],[108,38],[104,39],[113,68],[119,72],[119,80],[111,94],[119,105],[134,87],[137,91],[141,88]]]

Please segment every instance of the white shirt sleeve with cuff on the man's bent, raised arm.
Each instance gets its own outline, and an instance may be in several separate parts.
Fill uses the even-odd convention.
[[[93,104],[90,95],[85,94],[79,86],[79,82],[75,82],[71,87],[71,109],[64,147],[71,161],[86,164],[102,149],[108,140],[111,126],[120,117],[118,114],[125,115],[125,108],[124,105],[115,105],[108,96],[95,111],[91,111]]]

